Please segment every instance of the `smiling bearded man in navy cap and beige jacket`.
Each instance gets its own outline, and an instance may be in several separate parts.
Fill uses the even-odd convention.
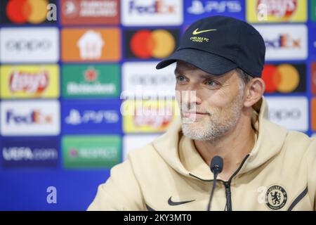
[[[204,18],[157,65],[176,63],[181,118],[112,168],[88,210],[315,210],[316,140],[267,120],[265,44],[251,25]]]

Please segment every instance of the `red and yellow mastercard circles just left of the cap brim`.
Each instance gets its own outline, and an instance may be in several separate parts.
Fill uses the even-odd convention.
[[[168,30],[138,30],[131,34],[129,46],[132,58],[165,58],[176,48],[176,39]]]

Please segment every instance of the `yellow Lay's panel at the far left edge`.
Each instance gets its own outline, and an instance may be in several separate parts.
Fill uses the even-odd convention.
[[[57,65],[1,67],[2,98],[58,98]]]

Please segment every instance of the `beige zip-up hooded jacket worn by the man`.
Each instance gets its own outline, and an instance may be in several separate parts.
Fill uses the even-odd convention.
[[[211,210],[316,210],[315,138],[287,131],[267,115],[263,98],[251,119],[255,146],[228,181],[219,174]],[[179,118],[111,169],[88,210],[206,210],[212,182]]]

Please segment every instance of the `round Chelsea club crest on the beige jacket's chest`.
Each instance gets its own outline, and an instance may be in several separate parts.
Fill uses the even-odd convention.
[[[265,205],[271,210],[279,210],[287,203],[287,191],[282,186],[274,185],[265,193]]]

